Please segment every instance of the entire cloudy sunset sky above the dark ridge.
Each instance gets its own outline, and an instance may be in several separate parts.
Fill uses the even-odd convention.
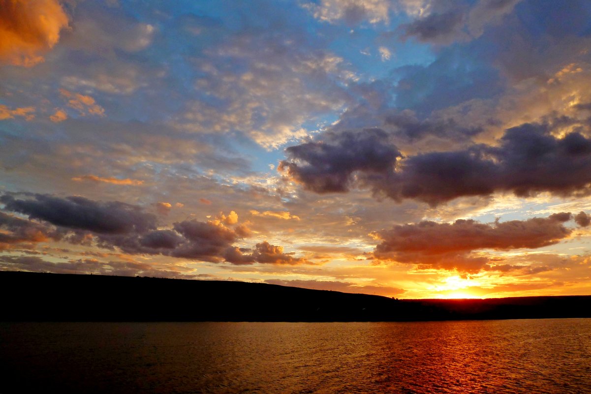
[[[0,0],[0,269],[591,294],[587,0]]]

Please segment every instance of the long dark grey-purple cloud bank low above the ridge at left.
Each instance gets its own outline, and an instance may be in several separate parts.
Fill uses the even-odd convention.
[[[119,201],[99,202],[84,197],[60,198],[30,193],[22,198],[15,196],[18,194],[0,197],[4,210],[27,214],[29,220],[0,212],[0,229],[4,230],[0,232],[0,249],[53,238],[86,246],[95,242],[99,248],[119,248],[131,255],[165,255],[238,265],[307,262],[266,241],[257,243],[253,250],[233,246],[237,240],[250,235],[245,224],[228,222],[232,224],[228,227],[218,220],[192,219],[176,222],[171,229],[156,229],[153,214]],[[32,219],[53,226],[44,226]]]

